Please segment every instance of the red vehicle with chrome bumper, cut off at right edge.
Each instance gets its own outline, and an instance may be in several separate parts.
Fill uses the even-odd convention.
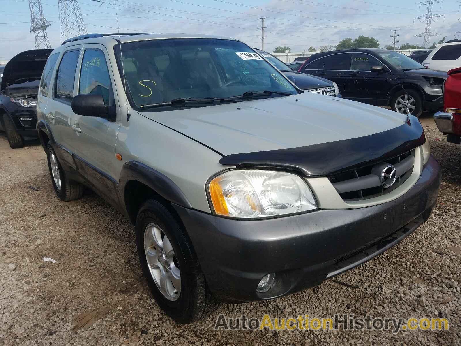
[[[438,129],[448,134],[447,141],[461,143],[461,67],[447,72],[443,92],[443,110],[434,114]]]

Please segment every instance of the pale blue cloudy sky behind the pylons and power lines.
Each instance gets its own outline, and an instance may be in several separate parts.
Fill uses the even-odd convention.
[[[152,32],[203,33],[230,36],[260,48],[258,18],[267,17],[265,50],[289,46],[292,52],[335,45],[341,39],[373,36],[381,47],[389,44],[390,30],[400,28],[400,43],[422,44],[413,36],[424,31],[414,18],[424,15],[414,0],[79,0],[89,33]],[[62,41],[57,0],[42,0],[52,47]],[[461,31],[458,0],[444,0],[433,12],[444,14],[431,31],[454,38]],[[34,48],[28,1],[0,0],[0,60]],[[118,18],[118,25],[117,25]],[[461,32],[459,34],[461,36]],[[438,41],[439,37],[431,37]],[[458,36],[459,37],[459,36]],[[397,45],[398,45],[397,44]]]

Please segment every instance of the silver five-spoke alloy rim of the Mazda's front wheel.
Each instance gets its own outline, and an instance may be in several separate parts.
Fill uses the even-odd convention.
[[[155,284],[165,298],[177,300],[181,293],[181,273],[170,239],[160,226],[150,223],[144,230],[144,252]]]

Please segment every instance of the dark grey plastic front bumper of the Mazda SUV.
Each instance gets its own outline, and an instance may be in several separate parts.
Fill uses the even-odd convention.
[[[248,302],[317,286],[395,245],[427,220],[440,181],[438,163],[431,157],[407,193],[372,207],[257,221],[175,208],[213,294],[228,302]],[[272,272],[272,288],[256,292],[260,279]]]

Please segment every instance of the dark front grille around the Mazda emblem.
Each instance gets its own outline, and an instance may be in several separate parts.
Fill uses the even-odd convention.
[[[382,167],[396,167],[396,182],[384,188],[381,185]],[[413,172],[414,150],[374,165],[352,169],[328,177],[344,201],[357,201],[385,195],[402,185]]]

